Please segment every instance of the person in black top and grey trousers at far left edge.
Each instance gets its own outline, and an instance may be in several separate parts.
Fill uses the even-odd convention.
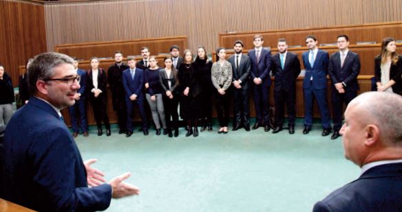
[[[0,125],[7,125],[12,117],[12,102],[14,102],[14,88],[10,76],[4,72],[0,64]]]

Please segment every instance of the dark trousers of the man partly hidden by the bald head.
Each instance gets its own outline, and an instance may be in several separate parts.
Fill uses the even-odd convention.
[[[355,99],[355,97],[357,97],[357,91],[348,91],[345,89],[345,93],[339,93],[337,89],[332,86],[331,102],[334,130],[339,131],[342,127],[343,102],[348,106],[349,102]]]

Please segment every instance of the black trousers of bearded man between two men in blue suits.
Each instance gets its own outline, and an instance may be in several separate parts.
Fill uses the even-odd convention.
[[[282,127],[284,124],[285,104],[288,112],[288,126],[295,126],[295,89],[285,91],[285,89],[274,90],[275,98],[275,126]]]

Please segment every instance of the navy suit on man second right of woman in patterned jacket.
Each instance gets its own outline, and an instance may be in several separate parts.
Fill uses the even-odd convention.
[[[271,51],[262,48],[260,53],[260,61],[257,61],[255,49],[248,51],[251,60],[251,80],[260,78],[262,84],[254,85],[254,104],[255,113],[257,113],[257,121],[267,125],[269,123],[269,86],[271,86]]]

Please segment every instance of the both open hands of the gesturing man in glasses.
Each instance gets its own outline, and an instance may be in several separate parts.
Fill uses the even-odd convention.
[[[84,162],[85,169],[87,170],[87,182],[91,187],[96,187],[106,182],[105,178],[103,178],[105,174],[100,172],[98,169],[91,167],[91,165],[96,161],[96,159],[89,159],[88,161]],[[129,178],[130,176],[131,174],[127,172],[120,176],[116,176],[109,181],[109,185],[112,187],[112,198],[123,198],[125,196],[138,195],[140,193],[140,189],[138,187],[123,182],[123,180]]]

